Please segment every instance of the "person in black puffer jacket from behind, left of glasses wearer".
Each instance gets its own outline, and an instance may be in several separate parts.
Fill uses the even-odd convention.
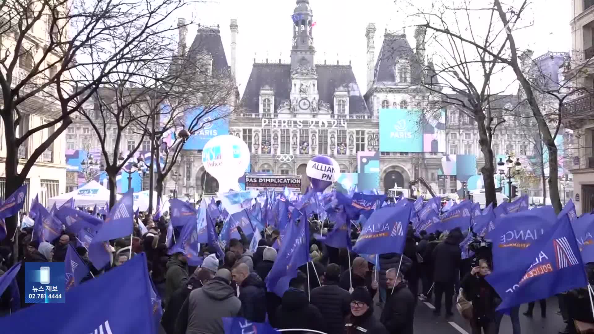
[[[320,309],[326,321],[326,332],[340,334],[345,331],[345,317],[350,313],[350,294],[338,286],[338,264],[328,264],[323,277],[322,286],[310,292],[310,303]]]

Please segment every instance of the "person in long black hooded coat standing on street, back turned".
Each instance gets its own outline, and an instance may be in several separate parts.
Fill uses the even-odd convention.
[[[434,314],[441,314],[441,297],[445,294],[445,315],[453,316],[451,311],[452,299],[454,297],[454,284],[460,275],[460,263],[462,262],[462,231],[454,228],[433,250],[433,281],[435,282],[435,310]]]

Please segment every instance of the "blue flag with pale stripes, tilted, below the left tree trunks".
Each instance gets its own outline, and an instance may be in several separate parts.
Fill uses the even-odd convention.
[[[108,218],[105,219],[102,228],[93,238],[93,242],[109,241],[132,234],[134,222],[134,196],[132,189],[119,199],[118,203],[109,210]]]

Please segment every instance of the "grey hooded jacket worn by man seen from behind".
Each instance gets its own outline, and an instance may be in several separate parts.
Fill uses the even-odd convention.
[[[241,316],[241,301],[224,278],[215,277],[190,292],[175,322],[178,334],[225,333],[222,317]]]

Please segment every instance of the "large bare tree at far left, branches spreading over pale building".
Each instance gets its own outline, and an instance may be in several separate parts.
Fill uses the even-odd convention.
[[[168,24],[169,16],[186,4],[185,0],[1,2],[5,194],[23,184],[36,160],[71,124],[71,114],[103,83],[114,82],[110,77],[130,64],[157,60],[154,53],[144,51],[163,42],[175,29]],[[24,118],[39,109],[48,109],[46,116],[51,121],[24,128]],[[45,129],[53,133],[18,171],[19,148]],[[15,223],[15,219],[8,220],[9,233]]]

